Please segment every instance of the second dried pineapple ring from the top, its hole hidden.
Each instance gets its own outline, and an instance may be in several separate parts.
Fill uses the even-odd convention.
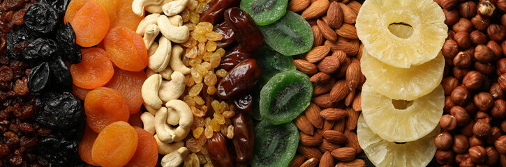
[[[441,52],[433,60],[410,68],[392,67],[373,58],[366,49],[360,59],[362,73],[375,92],[395,100],[415,100],[436,88],[445,70]]]

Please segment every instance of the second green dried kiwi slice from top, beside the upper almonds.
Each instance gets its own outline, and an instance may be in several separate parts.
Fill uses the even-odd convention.
[[[285,56],[304,54],[313,46],[313,30],[306,19],[287,11],[278,21],[260,26],[269,47]]]

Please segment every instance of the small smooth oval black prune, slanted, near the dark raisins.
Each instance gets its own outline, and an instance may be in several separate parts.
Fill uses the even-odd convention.
[[[28,88],[34,93],[40,93],[50,81],[49,65],[44,62],[31,69],[28,76]]]

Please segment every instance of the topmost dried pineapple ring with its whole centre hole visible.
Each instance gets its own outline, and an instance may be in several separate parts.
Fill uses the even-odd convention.
[[[373,57],[402,68],[438,56],[448,31],[445,14],[433,0],[367,0],[355,26]]]

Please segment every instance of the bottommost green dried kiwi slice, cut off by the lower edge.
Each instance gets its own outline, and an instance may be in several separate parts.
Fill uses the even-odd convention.
[[[251,166],[288,166],[299,146],[299,131],[293,122],[272,125],[262,120],[255,127],[255,149]]]

